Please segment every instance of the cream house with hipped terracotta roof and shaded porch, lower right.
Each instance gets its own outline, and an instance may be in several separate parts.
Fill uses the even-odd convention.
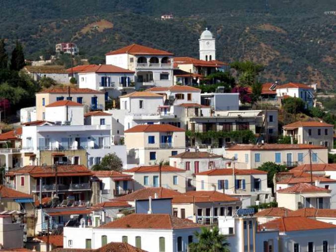
[[[290,210],[298,210],[303,207],[329,209],[331,190],[308,183],[298,183],[277,190],[276,201],[279,207],[287,207]]]

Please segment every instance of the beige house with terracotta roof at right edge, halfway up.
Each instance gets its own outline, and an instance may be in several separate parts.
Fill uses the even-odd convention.
[[[334,125],[324,122],[294,122],[282,127],[283,135],[290,136],[298,144],[321,145],[333,149]]]

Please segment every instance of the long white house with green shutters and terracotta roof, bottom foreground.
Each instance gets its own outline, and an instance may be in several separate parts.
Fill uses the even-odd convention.
[[[63,244],[65,249],[98,249],[124,242],[148,252],[181,252],[202,226],[168,214],[130,214],[98,228],[65,227]]]

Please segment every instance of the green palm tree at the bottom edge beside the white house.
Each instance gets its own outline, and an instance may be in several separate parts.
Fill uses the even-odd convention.
[[[194,233],[198,242],[189,245],[190,252],[230,252],[229,243],[224,235],[219,234],[218,227],[202,227],[201,232]]]

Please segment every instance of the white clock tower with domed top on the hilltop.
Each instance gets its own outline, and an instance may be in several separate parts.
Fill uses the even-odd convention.
[[[202,32],[198,41],[199,59],[205,61],[216,60],[216,39],[214,39],[208,28]]]

